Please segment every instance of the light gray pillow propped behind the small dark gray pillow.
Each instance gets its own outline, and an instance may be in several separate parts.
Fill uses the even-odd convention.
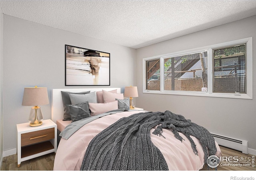
[[[88,94],[69,94],[71,104],[76,105],[82,102],[98,103],[96,92]]]

